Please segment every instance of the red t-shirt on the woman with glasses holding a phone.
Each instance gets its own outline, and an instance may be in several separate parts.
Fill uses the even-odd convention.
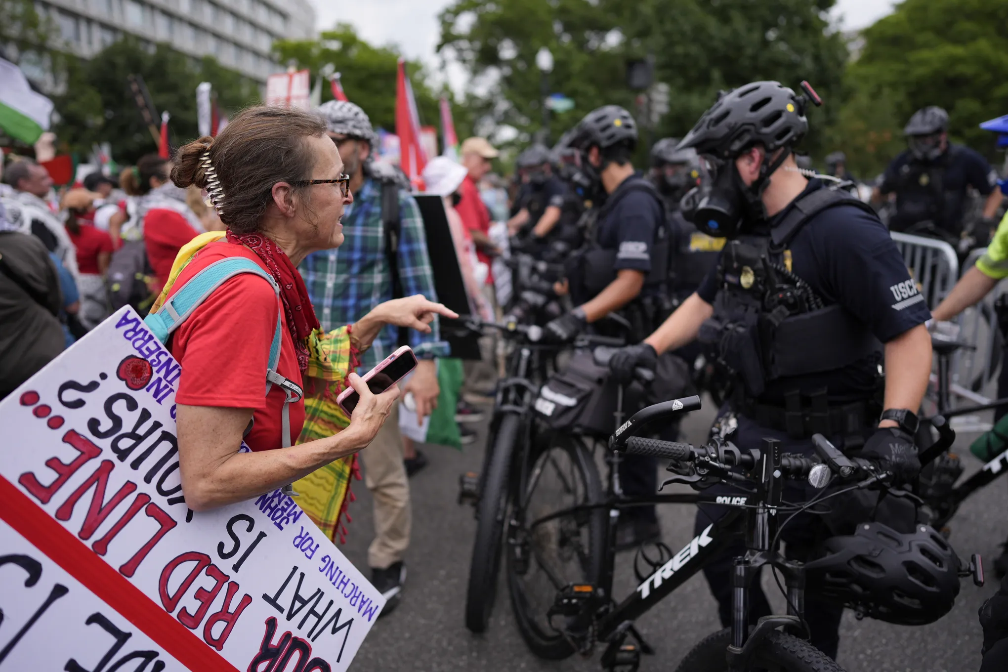
[[[168,295],[174,294],[198,271],[227,257],[247,257],[266,269],[259,257],[244,245],[218,241],[201,250],[178,274]],[[271,450],[283,445],[280,431],[285,395],[277,385],[266,394],[266,365],[279,306],[279,299],[266,280],[242,273],[208,296],[168,342],[168,350],[182,367],[175,401],[187,406],[255,409],[252,431],[245,437],[253,450]],[[301,372],[286,317],[280,332],[277,373],[301,386]],[[304,402],[290,404],[289,413],[292,445],[304,424]]]

